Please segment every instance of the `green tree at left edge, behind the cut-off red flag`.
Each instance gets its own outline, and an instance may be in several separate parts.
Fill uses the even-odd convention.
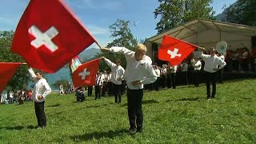
[[[24,62],[24,59],[10,51],[14,31],[0,31],[0,62]],[[10,79],[7,86],[12,90],[22,90],[24,85],[27,85],[30,80],[27,66],[22,65],[17,70],[14,77]]]

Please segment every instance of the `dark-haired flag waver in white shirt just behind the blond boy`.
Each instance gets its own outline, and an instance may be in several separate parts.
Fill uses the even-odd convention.
[[[114,87],[114,102],[120,103],[122,98],[122,77],[125,74],[125,70],[122,68],[121,60],[116,60],[115,63],[111,62],[109,59],[102,57],[111,69],[111,78],[110,81],[113,82]]]

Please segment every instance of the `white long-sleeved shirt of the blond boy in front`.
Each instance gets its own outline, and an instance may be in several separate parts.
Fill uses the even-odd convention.
[[[122,53],[126,57],[127,66],[124,74],[126,78],[127,86],[131,90],[139,90],[143,88],[143,84],[150,84],[155,82],[158,78],[155,74],[153,67],[151,66],[151,58],[144,55],[142,60],[137,61],[135,58],[135,52],[126,49],[125,47],[114,46],[110,48],[111,52]],[[134,86],[132,82],[140,81],[141,84]]]

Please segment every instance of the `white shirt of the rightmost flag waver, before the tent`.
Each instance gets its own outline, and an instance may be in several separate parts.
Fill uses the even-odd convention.
[[[202,54],[200,53],[200,57],[205,62],[205,66],[203,70],[209,73],[214,73],[214,69],[222,69],[224,66],[226,66],[226,62],[222,60],[222,58],[219,58],[216,54],[212,57],[209,54]],[[219,66],[219,67],[218,67]]]

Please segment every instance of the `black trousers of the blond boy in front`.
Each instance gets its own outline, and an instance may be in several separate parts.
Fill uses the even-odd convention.
[[[142,127],[143,113],[142,113],[142,98],[143,90],[130,90],[127,89],[127,102],[128,102],[128,117],[130,128]],[[136,124],[135,124],[136,123]]]

